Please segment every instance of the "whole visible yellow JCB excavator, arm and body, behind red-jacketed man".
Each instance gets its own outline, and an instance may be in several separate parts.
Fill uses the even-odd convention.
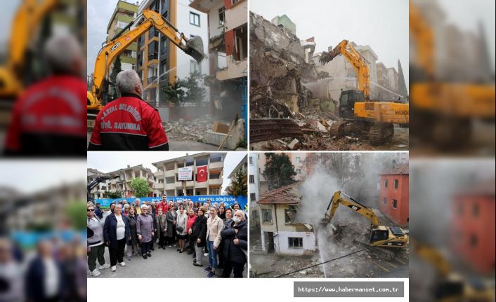
[[[141,15],[136,20],[139,19],[141,19]],[[157,31],[166,36],[169,41],[174,43],[178,48],[181,48],[181,50],[193,57],[197,62],[201,62],[204,58],[203,41],[200,36],[187,39],[183,33],[179,32],[176,27],[171,25],[162,15],[155,13],[155,11],[143,11],[143,22],[137,27],[130,29],[133,24],[134,21],[130,22],[121,32],[116,34],[110,41],[107,41],[96,57],[93,78],[89,81],[91,87],[89,87],[89,91],[86,93],[86,109],[89,117],[98,114],[98,111],[111,100],[110,95],[108,95],[108,86],[112,85],[108,80],[110,64],[131,43],[136,41],[139,36],[147,32],[151,27],[155,27]],[[129,32],[127,32],[128,29],[130,29]],[[91,125],[90,122],[89,126]]]

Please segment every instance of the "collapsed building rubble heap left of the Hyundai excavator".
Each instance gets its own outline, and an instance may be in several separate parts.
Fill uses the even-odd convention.
[[[250,143],[252,150],[360,149],[360,137],[337,138],[337,102],[325,95],[328,81],[308,47],[289,30],[250,13]],[[370,149],[370,146],[364,146]]]

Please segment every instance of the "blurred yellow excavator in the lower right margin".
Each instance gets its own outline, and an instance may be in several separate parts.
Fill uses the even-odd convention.
[[[431,264],[436,269],[436,281],[432,287],[432,296],[440,302],[494,301],[490,287],[480,277],[465,277],[455,273],[436,247],[426,245],[418,240],[410,240],[412,254]],[[411,277],[411,276],[410,276]]]

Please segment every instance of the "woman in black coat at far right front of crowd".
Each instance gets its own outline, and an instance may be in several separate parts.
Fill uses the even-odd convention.
[[[230,277],[230,273],[234,270],[234,277],[242,278],[248,250],[248,226],[244,220],[244,212],[235,211],[233,221],[234,224],[228,225],[221,231],[224,256],[223,277]]]

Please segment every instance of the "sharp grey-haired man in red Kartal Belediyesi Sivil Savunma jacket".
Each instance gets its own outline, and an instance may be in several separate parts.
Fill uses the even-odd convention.
[[[143,85],[136,71],[115,78],[121,97],[96,116],[89,151],[169,151],[169,142],[157,109],[141,99]]]

